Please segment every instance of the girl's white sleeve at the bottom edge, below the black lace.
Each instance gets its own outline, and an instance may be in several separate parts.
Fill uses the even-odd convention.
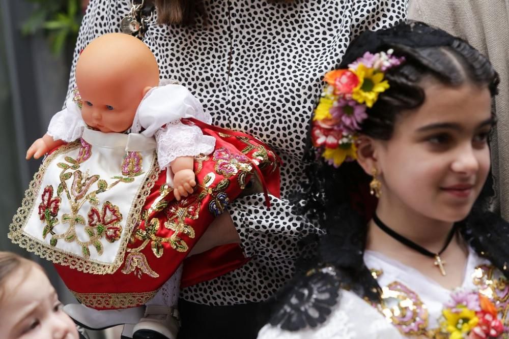
[[[400,332],[355,293],[342,291],[329,318],[316,328],[295,332],[265,325],[258,339],[402,339]]]

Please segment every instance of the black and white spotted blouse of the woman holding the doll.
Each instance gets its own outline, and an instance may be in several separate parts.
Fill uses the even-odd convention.
[[[281,199],[263,196],[232,203],[230,213],[247,256],[246,265],[181,292],[186,300],[224,305],[261,301],[291,278],[297,240],[312,225],[294,215],[285,199],[298,188],[306,129],[325,72],[337,67],[349,42],[366,29],[404,19],[408,0],[205,0],[208,26],[149,23],[144,42],[161,78],[187,86],[212,115],[213,124],[248,133],[284,161]],[[81,25],[79,51],[92,39],[120,32],[130,0],[92,0]],[[128,53],[129,51],[126,51]]]

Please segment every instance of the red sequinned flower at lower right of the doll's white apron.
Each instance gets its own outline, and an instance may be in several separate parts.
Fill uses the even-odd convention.
[[[106,201],[102,206],[102,211],[92,207],[88,213],[89,226],[96,227],[99,234],[103,234],[109,242],[115,242],[122,235],[122,214],[119,207]]]

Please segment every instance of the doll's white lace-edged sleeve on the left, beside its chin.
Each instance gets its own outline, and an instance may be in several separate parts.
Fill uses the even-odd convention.
[[[81,138],[83,129],[86,127],[81,118],[81,111],[72,98],[66,102],[66,107],[53,115],[49,121],[47,134],[53,140],[71,142]]]

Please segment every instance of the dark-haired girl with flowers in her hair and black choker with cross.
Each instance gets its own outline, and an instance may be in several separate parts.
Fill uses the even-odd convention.
[[[501,337],[507,224],[478,198],[496,72],[417,22],[362,34],[340,68],[315,111],[325,161],[305,192],[328,233],[320,264],[304,264],[259,338]]]

